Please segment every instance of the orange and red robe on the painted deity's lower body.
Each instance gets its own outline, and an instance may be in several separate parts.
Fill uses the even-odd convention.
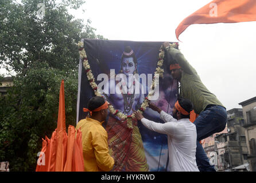
[[[106,131],[110,155],[115,157],[114,171],[149,171],[137,120],[132,121],[133,128],[129,129],[128,120],[120,121],[111,116],[108,118]]]

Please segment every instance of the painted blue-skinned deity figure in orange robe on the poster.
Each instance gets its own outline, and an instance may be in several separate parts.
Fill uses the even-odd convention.
[[[122,85],[120,87],[108,87],[110,85],[107,85],[106,89],[110,91],[104,93],[110,104],[126,115],[131,115],[134,110],[137,110],[137,105],[140,105],[145,98],[142,93],[141,83],[135,81],[136,78],[134,77],[129,79],[129,76],[131,77],[131,75],[138,73],[137,65],[135,53],[131,50],[130,46],[127,46],[125,51],[123,51],[121,69],[119,70]],[[136,82],[139,83],[138,93],[135,93]],[[106,130],[108,133],[110,155],[114,156],[116,161],[115,171],[142,172],[149,170],[136,119],[133,119],[133,129],[127,130],[127,120],[121,121],[118,117],[110,114]]]

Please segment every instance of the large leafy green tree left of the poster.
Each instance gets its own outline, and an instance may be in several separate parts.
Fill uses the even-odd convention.
[[[0,97],[0,161],[10,171],[34,171],[41,138],[56,128],[61,79],[65,85],[66,125],[76,124],[79,53],[76,43],[96,35],[90,21],[69,8],[83,0],[0,2],[0,65],[15,72],[14,86]],[[42,4],[40,4],[42,5]]]

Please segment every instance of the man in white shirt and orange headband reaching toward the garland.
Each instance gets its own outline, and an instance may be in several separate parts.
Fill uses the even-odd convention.
[[[173,107],[172,116],[152,103],[149,108],[160,113],[160,118],[165,123],[147,120],[139,112],[134,112],[135,117],[141,120],[146,128],[167,134],[170,171],[199,172],[196,165],[196,126],[189,121],[189,113],[193,110],[191,101],[179,98]]]

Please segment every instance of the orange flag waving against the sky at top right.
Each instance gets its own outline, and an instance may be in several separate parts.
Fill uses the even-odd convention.
[[[256,0],[214,0],[185,18],[176,29],[176,38],[192,24],[250,21],[256,21]]]

